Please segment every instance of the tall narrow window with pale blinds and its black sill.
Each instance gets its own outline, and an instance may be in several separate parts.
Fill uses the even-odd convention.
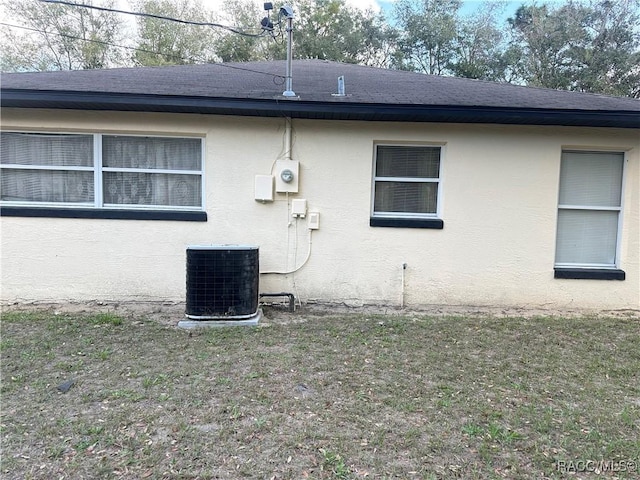
[[[556,277],[623,279],[618,266],[624,154],[562,153]]]

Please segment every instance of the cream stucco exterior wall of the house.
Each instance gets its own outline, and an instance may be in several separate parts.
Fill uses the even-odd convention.
[[[189,245],[260,247],[261,292],[303,301],[640,308],[637,131],[293,120],[296,194],[254,200],[285,148],[284,119],[4,109],[4,130],[205,138],[207,222],[2,217],[1,299],[183,301]],[[370,227],[376,142],[443,146],[444,228]],[[626,152],[620,268],[626,280],[554,278],[563,149]],[[311,242],[289,202],[320,213]],[[403,270],[406,264],[406,270]],[[404,287],[403,287],[404,278]]]

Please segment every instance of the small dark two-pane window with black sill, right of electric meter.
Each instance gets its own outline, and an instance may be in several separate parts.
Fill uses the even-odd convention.
[[[377,145],[371,226],[442,228],[438,146]]]

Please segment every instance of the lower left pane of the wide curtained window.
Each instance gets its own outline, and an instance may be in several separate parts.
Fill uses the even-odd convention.
[[[93,172],[2,170],[2,200],[93,203]]]

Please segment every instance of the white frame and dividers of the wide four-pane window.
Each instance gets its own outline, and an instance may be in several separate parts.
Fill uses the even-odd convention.
[[[93,172],[94,200],[93,202],[38,202],[38,201],[12,201],[2,200],[2,206],[18,207],[46,207],[46,208],[86,208],[100,210],[150,210],[150,211],[204,211],[205,210],[205,138],[201,136],[187,135],[159,135],[159,134],[123,134],[123,133],[90,133],[90,132],[52,132],[52,131],[23,131],[23,130],[3,130],[2,133],[20,133],[35,135],[85,135],[93,138],[93,166],[49,166],[49,165],[21,165],[21,164],[0,164],[2,170],[55,170],[55,171],[89,171]],[[102,166],[102,138],[134,137],[134,138],[185,138],[200,140],[200,169],[199,170],[170,170],[155,168],[112,168]],[[106,204],[103,195],[103,172],[132,172],[132,173],[160,173],[178,174],[200,177],[200,205],[197,206],[174,206],[174,205],[139,205],[139,204]]]

